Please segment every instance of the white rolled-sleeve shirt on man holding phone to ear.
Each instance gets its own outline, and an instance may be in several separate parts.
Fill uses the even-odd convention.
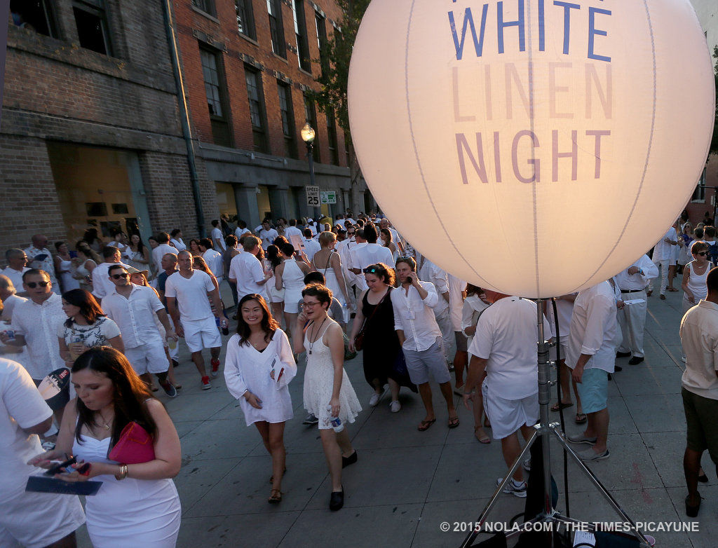
[[[386,249],[386,248],[385,248]],[[437,290],[431,282],[419,282],[426,290],[422,299],[414,285],[409,285],[409,295],[404,287],[391,292],[391,306],[394,310],[394,329],[404,331],[406,350],[424,351],[429,349],[442,336],[437,319],[434,317],[434,305],[437,303]]]

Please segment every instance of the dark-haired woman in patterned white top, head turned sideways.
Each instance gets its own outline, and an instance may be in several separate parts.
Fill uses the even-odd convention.
[[[73,289],[62,293],[62,310],[67,320],[57,330],[60,356],[70,367],[80,354],[93,346],[110,345],[125,351],[120,328],[100,308],[92,293]]]

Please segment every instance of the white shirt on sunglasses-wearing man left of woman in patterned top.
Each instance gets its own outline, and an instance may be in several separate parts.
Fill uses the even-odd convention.
[[[52,293],[42,304],[28,299],[12,311],[11,329],[25,337],[29,359],[24,365],[33,379],[42,379],[55,369],[65,367],[65,360],[60,357],[57,329],[66,319],[62,298],[57,293]]]

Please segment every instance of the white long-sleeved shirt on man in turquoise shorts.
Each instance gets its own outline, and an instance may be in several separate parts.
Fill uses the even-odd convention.
[[[612,373],[616,361],[616,299],[607,281],[580,291],[574,301],[566,364],[576,367],[579,356],[591,356],[585,369]]]

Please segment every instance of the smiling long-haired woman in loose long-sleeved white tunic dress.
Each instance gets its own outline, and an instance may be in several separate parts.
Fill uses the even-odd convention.
[[[242,407],[244,420],[255,425],[271,455],[271,493],[268,502],[281,502],[284,476],[284,422],[294,417],[287,384],[297,374],[284,331],[269,313],[266,301],[256,293],[238,304],[237,334],[227,341],[225,381]]]

